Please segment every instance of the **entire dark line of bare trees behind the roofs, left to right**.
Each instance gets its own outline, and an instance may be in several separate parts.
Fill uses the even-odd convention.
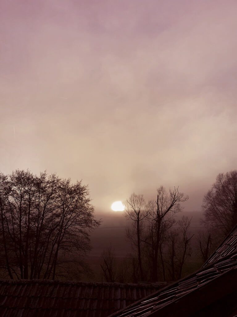
[[[132,252],[118,259],[112,245],[105,249],[98,263],[102,280],[174,281],[204,263],[237,223],[237,171],[217,176],[195,235],[191,217],[177,220],[187,199],[178,187],[160,186],[149,201],[132,193],[124,212]],[[89,233],[99,225],[81,182],[46,172],[0,173],[1,278],[98,279],[86,259]]]

